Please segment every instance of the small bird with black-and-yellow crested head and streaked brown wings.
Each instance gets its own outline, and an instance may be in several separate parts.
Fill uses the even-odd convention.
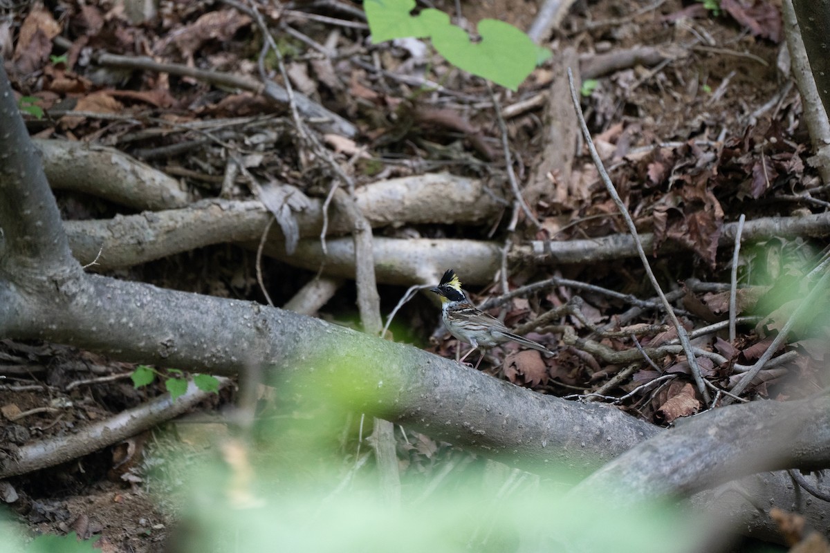
[[[547,347],[510,332],[505,323],[470,303],[461,291],[461,281],[454,270],[448,269],[441,282],[430,291],[441,297],[441,315],[450,334],[472,346],[472,349],[461,357],[461,361],[480,347],[496,347],[510,340],[540,352],[552,353]],[[481,365],[483,358],[482,354],[476,363],[476,369]]]

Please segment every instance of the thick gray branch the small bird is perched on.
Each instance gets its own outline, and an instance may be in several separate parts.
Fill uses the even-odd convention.
[[[659,432],[607,405],[535,394],[416,347],[256,303],[96,275],[51,298],[20,297],[0,283],[0,299],[2,336],[220,375],[262,364],[279,386],[316,401],[342,396],[349,383],[350,409],[535,471],[585,474]]]

